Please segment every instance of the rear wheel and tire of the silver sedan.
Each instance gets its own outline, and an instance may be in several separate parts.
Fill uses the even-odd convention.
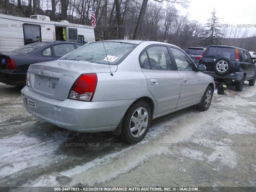
[[[151,122],[150,106],[140,100],[132,104],[124,115],[121,136],[128,143],[140,142],[148,132]]]

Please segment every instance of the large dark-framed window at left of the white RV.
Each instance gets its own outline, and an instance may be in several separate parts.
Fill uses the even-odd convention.
[[[23,24],[24,45],[41,41],[41,26],[36,24]]]

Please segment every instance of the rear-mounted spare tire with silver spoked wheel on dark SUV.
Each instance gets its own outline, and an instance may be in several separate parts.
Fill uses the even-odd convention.
[[[220,57],[214,61],[214,71],[217,75],[225,76],[232,70],[232,64],[228,58]]]

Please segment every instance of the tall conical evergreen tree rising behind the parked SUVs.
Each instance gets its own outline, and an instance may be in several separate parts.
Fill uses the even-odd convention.
[[[220,44],[220,22],[216,16],[215,8],[211,13],[211,18],[207,21],[206,27],[208,29],[203,31],[200,44],[203,46]]]

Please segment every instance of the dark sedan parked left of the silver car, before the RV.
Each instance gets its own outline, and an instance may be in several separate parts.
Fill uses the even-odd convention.
[[[83,44],[66,41],[35,42],[11,52],[0,52],[0,82],[25,86],[30,64],[57,60],[80,46]]]

